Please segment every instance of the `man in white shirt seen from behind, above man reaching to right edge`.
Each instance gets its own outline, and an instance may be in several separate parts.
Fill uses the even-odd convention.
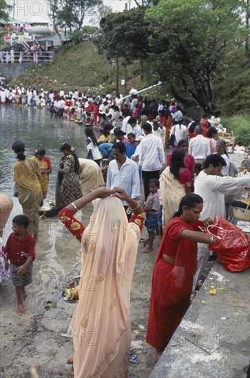
[[[196,163],[203,164],[204,160],[210,155],[209,140],[203,137],[203,127],[196,126],[196,137],[189,142],[189,155],[194,157]]]

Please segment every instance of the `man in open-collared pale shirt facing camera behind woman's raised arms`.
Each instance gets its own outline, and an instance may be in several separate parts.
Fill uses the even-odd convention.
[[[119,186],[123,188],[127,195],[131,198],[137,198],[140,195],[140,177],[138,166],[133,160],[126,155],[126,147],[123,142],[113,144],[112,160],[107,168],[107,189]],[[127,210],[127,202],[123,201],[125,210]]]

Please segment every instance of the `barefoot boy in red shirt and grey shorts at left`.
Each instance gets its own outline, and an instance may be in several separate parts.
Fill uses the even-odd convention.
[[[6,269],[10,260],[10,278],[16,289],[17,312],[25,313],[23,299],[26,297],[25,286],[32,282],[33,260],[35,258],[34,238],[26,231],[30,221],[25,215],[14,216],[12,234],[8,237],[4,252]]]

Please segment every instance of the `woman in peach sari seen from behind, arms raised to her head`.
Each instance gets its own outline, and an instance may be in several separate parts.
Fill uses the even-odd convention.
[[[121,200],[134,212],[130,222]],[[94,212],[84,227],[74,213],[90,201]],[[122,188],[98,188],[59,212],[82,249],[79,304],[68,331],[74,338],[76,378],[128,377],[129,298],[144,216]]]

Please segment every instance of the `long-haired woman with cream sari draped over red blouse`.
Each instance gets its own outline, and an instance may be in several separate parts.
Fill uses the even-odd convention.
[[[163,199],[163,227],[178,209],[180,200],[191,192],[191,173],[185,168],[185,153],[180,149],[171,155],[170,166],[160,175]]]

